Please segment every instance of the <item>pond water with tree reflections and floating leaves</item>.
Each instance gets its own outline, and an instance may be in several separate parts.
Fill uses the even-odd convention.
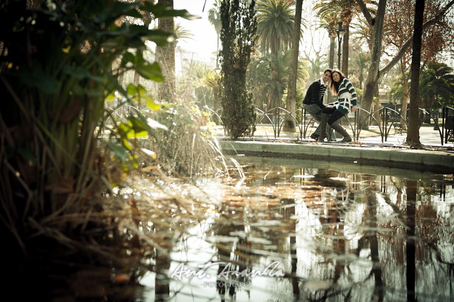
[[[244,179],[199,184],[204,217],[153,260],[142,299],[454,300],[452,174],[236,160]]]

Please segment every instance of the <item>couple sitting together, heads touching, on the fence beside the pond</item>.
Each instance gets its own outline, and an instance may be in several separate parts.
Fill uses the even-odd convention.
[[[337,95],[337,101],[324,105],[323,100],[327,97],[325,92],[328,84],[331,92]],[[332,129],[344,137],[341,142],[351,142],[352,138],[347,130],[338,123],[338,120],[348,114],[350,110],[352,112],[357,110],[356,101],[356,91],[352,82],[338,69],[325,70],[323,76],[309,86],[303,100],[303,108],[320,123],[311,138],[320,142],[324,141],[328,136],[326,126],[329,124]]]

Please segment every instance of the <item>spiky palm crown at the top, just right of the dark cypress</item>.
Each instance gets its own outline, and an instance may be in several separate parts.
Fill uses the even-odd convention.
[[[292,46],[295,10],[293,1],[257,2],[257,33],[262,52],[277,55]]]

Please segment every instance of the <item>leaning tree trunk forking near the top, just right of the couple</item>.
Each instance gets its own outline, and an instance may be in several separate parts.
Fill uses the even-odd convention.
[[[367,74],[366,82],[364,83],[364,90],[363,90],[363,97],[362,97],[362,105],[363,108],[370,108],[372,102],[374,100],[375,94],[375,87],[378,84],[378,79],[380,75],[380,57],[381,57],[381,42],[383,37],[383,21],[384,21],[384,13],[386,9],[386,0],[380,0],[378,3],[377,14],[374,18],[374,22],[372,21],[372,17],[369,11],[366,8],[363,0],[357,0],[361,11],[363,12],[364,16],[367,19],[367,22],[371,26],[372,29],[372,53],[371,53],[371,65],[369,68],[369,73]],[[374,24],[372,24],[374,23]],[[359,123],[363,125],[363,129],[369,129],[369,124],[366,122],[366,114],[359,115]]]

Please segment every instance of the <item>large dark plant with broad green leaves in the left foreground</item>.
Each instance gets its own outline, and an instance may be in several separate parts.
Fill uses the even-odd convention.
[[[118,91],[126,98],[159,105],[143,87],[118,84],[120,72],[137,71],[163,81],[160,67],[143,57],[145,41],[165,45],[171,33],[128,22],[146,12],[154,18],[192,19],[185,10],[149,2],[108,0],[25,1],[0,5],[0,214],[9,236],[25,250],[33,234],[85,229],[99,218],[63,219],[100,211],[92,196],[111,187],[122,169],[111,159],[137,166],[134,141],[163,128],[143,114],[116,125],[107,143],[102,133],[104,102]],[[116,68],[112,63],[119,61]],[[153,156],[153,153],[150,153]],[[117,176],[115,176],[117,175]],[[52,231],[54,230],[54,231]]]

